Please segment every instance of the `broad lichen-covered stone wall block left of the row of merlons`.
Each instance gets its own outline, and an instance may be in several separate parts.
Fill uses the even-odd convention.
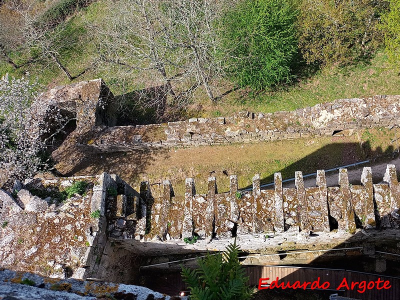
[[[83,195],[75,193],[63,202],[57,199],[59,190],[81,180],[88,184]],[[122,179],[103,173],[25,183],[15,184],[16,195],[0,189],[1,267],[52,278],[129,282],[135,277],[132,272],[137,270],[126,271],[121,264],[132,265],[129,259],[133,256],[124,249],[116,250],[106,234],[110,210],[106,203],[135,195]],[[34,196],[29,190],[46,196]]]

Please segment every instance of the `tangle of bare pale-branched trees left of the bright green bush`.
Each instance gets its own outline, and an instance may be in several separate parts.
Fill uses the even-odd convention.
[[[89,23],[99,67],[135,77],[136,105],[182,108],[198,87],[215,101],[223,75],[218,18],[227,0],[106,0],[104,19]]]

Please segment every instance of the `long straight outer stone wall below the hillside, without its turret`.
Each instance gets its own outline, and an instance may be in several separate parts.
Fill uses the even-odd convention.
[[[339,131],[400,123],[400,96],[339,99],[294,111],[192,118],[162,124],[93,126],[77,138],[84,151],[112,152],[151,147],[201,146],[331,136]]]

